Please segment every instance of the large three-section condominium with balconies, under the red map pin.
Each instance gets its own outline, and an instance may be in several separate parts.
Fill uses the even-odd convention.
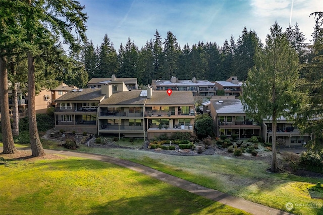
[[[192,92],[156,92],[99,89],[72,90],[56,99],[56,129],[111,134],[120,137],[153,138],[162,133],[190,132],[194,126]]]

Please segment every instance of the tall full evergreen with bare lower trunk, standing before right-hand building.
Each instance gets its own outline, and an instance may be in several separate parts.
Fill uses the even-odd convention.
[[[249,70],[242,85],[241,97],[244,110],[256,120],[272,120],[272,165],[271,172],[277,172],[276,128],[280,117],[293,117],[301,104],[297,92],[298,58],[277,22],[266,37],[266,45],[257,49],[255,66]]]

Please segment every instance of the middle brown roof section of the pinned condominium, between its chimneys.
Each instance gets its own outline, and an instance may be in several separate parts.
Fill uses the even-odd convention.
[[[141,91],[116,92],[103,99],[100,105],[143,105],[147,97],[140,94]]]

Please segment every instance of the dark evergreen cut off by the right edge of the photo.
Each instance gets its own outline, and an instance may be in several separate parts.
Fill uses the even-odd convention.
[[[312,34],[314,57],[303,65],[305,83],[302,86],[308,93],[306,105],[298,115],[298,128],[304,133],[313,134],[306,145],[308,149],[319,151],[323,148],[323,12],[312,13],[316,23]]]

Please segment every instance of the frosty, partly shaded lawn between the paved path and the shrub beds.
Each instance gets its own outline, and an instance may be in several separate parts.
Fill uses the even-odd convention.
[[[44,148],[56,144],[44,142]],[[62,149],[62,148],[60,148]],[[258,160],[243,160],[219,155],[173,156],[142,150],[120,148],[91,148],[81,146],[77,151],[105,154],[132,160],[174,176],[192,181],[270,207],[286,210],[292,202],[295,214],[323,214],[323,192],[309,190],[322,178],[272,174],[269,166]]]

